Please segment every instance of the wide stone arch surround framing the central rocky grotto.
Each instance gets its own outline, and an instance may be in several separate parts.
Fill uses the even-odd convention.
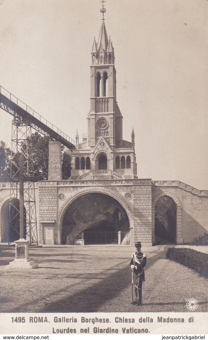
[[[88,194],[88,193],[102,193],[105,195],[109,195],[115,200],[117,200],[124,210],[126,211],[126,214],[128,216],[129,220],[129,228],[130,228],[130,240],[131,244],[133,244],[133,227],[134,227],[134,222],[133,222],[133,208],[127,203],[125,198],[117,191],[107,188],[107,187],[92,187],[92,188],[87,188],[87,191],[85,188],[80,188],[79,190],[75,191],[68,197],[63,204],[60,206],[58,210],[58,216],[57,216],[57,236],[58,236],[58,244],[61,244],[62,242],[62,228],[63,228],[63,220],[64,220],[64,215],[65,212],[68,208],[68,206],[75,201],[77,198],[79,198],[82,195]]]

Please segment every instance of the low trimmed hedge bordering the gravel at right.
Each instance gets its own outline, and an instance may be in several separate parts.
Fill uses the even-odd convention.
[[[166,258],[208,276],[208,254],[189,248],[168,248]]]

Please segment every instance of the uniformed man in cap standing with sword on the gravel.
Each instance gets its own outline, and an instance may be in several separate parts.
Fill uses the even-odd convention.
[[[141,306],[142,304],[142,282],[144,281],[144,267],[146,266],[146,254],[143,254],[141,250],[141,242],[135,243],[136,253],[132,254],[132,260],[130,263],[132,269],[132,289],[135,288],[136,301],[132,304]],[[133,293],[132,293],[133,294]],[[132,296],[133,300],[133,296]]]

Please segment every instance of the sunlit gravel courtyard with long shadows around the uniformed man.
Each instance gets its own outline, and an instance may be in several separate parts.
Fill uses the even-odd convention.
[[[129,267],[134,246],[86,245],[30,248],[33,270],[5,267],[14,246],[1,245],[1,312],[187,312],[190,298],[197,312],[208,311],[205,277],[166,260],[169,246],[142,246],[147,252],[143,305],[132,305]]]

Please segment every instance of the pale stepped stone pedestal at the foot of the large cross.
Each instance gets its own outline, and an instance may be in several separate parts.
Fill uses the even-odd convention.
[[[27,268],[34,269],[38,268],[38,264],[29,259],[29,241],[26,241],[24,238],[20,238],[18,241],[15,241],[15,259],[10,262],[10,264],[6,267],[11,268]]]

